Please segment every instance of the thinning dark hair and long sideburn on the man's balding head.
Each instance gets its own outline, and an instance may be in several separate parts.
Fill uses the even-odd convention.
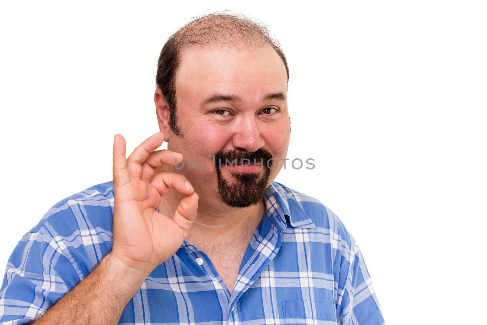
[[[289,80],[289,68],[279,42],[272,38],[268,28],[259,20],[252,20],[243,14],[229,11],[213,12],[203,17],[193,17],[183,27],[172,34],[161,50],[157,61],[156,87],[169,106],[169,127],[178,136],[183,133],[178,127],[176,118],[176,84],[175,76],[178,71],[180,54],[189,46],[204,46],[207,44],[226,44],[262,47],[270,45],[276,50],[286,68]]]

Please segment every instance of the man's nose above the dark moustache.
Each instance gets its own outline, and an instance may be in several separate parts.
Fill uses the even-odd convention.
[[[232,146],[253,153],[264,146],[259,123],[253,114],[240,115],[235,121]]]

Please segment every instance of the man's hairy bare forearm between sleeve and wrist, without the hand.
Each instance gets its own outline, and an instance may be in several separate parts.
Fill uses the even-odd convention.
[[[76,287],[34,324],[117,324],[146,278],[108,254]]]

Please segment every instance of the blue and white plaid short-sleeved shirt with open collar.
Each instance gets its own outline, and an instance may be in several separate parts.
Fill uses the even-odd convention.
[[[98,184],[56,203],[23,236],[0,288],[0,324],[34,319],[89,274],[112,247],[113,206],[113,183]],[[362,254],[332,210],[278,182],[265,206],[231,294],[184,241],[119,324],[384,324]]]

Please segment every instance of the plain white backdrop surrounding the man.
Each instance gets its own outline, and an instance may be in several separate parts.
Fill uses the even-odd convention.
[[[158,131],[159,52],[192,17],[261,19],[287,56],[288,158],[276,181],[355,237],[388,324],[478,324],[485,304],[483,1],[2,2],[0,265],[59,200],[112,179]],[[164,148],[165,144],[163,144]]]

